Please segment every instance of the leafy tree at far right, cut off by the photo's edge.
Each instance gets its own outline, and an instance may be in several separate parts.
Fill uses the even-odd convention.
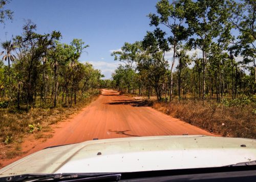
[[[256,3],[253,0],[243,0],[242,2],[228,2],[230,17],[229,20],[234,25],[234,28],[239,30],[240,35],[237,37],[237,42],[234,42],[236,54],[243,57],[243,63],[253,65],[254,69],[250,69],[254,74],[254,93],[256,93]]]

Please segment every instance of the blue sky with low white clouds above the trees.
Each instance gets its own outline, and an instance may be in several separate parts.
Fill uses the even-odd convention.
[[[62,34],[61,42],[82,39],[90,47],[80,61],[101,69],[105,79],[118,66],[110,56],[124,42],[142,40],[150,27],[146,15],[155,13],[157,0],[12,0],[6,7],[14,11],[14,19],[0,24],[0,41],[22,33],[25,20],[37,24],[38,33],[53,30]]]

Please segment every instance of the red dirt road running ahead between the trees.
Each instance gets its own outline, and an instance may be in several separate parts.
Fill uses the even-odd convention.
[[[54,145],[78,143],[94,138],[109,139],[161,135],[212,135],[203,129],[167,116],[113,90],[102,94],[69,122],[60,122],[53,137],[44,143],[23,143],[25,155]],[[24,157],[23,155],[22,157]],[[21,157],[1,161],[2,167]]]

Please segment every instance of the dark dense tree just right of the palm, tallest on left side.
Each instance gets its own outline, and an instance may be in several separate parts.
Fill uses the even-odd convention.
[[[36,84],[39,79],[39,65],[45,57],[46,49],[53,46],[55,40],[60,38],[60,33],[53,31],[51,34],[40,35],[35,32],[36,25],[30,20],[23,27],[22,36],[15,37],[15,43],[19,47],[19,59],[23,60],[25,72],[24,87],[27,92],[27,110],[34,105],[36,99]]]

